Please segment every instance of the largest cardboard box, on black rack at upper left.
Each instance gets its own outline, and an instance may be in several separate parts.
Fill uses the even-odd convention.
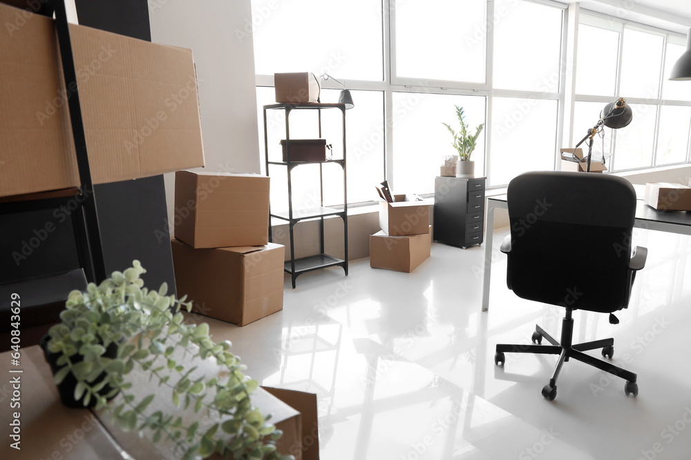
[[[0,197],[79,186],[55,21],[0,4],[0,23]],[[204,166],[191,50],[70,35],[93,183]]]

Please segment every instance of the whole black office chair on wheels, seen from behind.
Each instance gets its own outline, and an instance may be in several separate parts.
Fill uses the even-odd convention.
[[[602,348],[612,359],[614,339],[571,344],[574,310],[609,313],[627,308],[637,270],[645,266],[647,249],[631,252],[636,212],[634,188],[625,179],[586,172],[529,172],[509,183],[511,234],[502,242],[507,256],[507,284],[518,297],[566,308],[561,340],[540,326],[537,345],[497,345],[496,364],[505,352],[559,354],[542,396],[556,397],[556,381],[569,358],[626,380],[627,396],[638,394],[636,374],[585,354]],[[542,339],[551,345],[540,345]]]

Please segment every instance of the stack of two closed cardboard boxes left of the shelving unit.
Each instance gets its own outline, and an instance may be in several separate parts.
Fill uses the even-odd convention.
[[[283,308],[285,248],[269,243],[269,178],[176,172],[176,284],[193,310],[245,326]]]

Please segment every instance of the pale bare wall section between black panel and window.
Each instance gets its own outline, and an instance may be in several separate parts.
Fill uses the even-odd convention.
[[[151,41],[192,50],[206,171],[260,172],[250,0],[150,0]],[[173,178],[166,174],[169,222]]]

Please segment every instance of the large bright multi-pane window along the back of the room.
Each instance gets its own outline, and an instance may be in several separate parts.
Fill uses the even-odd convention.
[[[455,153],[442,125],[457,126],[454,106],[464,107],[473,130],[485,124],[472,159],[490,187],[520,172],[558,168],[567,133],[573,130],[574,145],[618,97],[627,99],[634,120],[596,137],[596,159],[610,171],[687,162],[691,85],[667,80],[684,37],[581,10],[578,40],[566,43],[565,8],[550,0],[252,0],[262,150],[262,106],[274,102],[274,72],[310,71],[343,79],[352,92],[349,203],[376,199],[374,185],[384,179],[395,192],[433,192],[444,157]],[[571,48],[575,69],[565,59]],[[573,95],[562,84],[569,77]],[[336,101],[340,86],[322,83],[321,100]],[[565,106],[571,96],[573,109]],[[322,134],[338,155],[334,112],[323,112]],[[272,117],[274,143],[283,139],[285,121],[278,112]],[[294,113],[291,137],[316,137],[315,127],[316,114]],[[299,169],[294,174],[303,174]],[[313,172],[304,174],[293,177],[295,206],[318,196],[318,185],[307,181]],[[325,204],[342,203],[338,171],[325,168],[324,177]],[[285,181],[273,181],[272,194],[283,203]]]

